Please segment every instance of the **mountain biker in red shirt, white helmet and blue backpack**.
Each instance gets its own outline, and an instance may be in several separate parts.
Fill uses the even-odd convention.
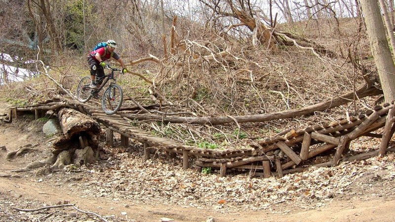
[[[122,73],[125,74],[127,72],[122,59],[119,58],[116,52],[114,52],[115,48],[117,48],[117,42],[110,39],[106,43],[107,46],[93,50],[88,54],[87,59],[90,67],[90,79],[92,80],[89,87],[92,89],[99,88],[100,84],[103,82],[101,77],[104,76],[104,67],[106,66],[104,61],[106,60],[111,58],[117,60],[122,66]]]

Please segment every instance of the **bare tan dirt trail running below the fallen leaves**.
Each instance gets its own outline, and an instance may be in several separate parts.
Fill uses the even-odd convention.
[[[121,213],[131,218],[130,221],[158,222],[166,217],[179,222],[202,222],[208,217],[215,218],[216,222],[264,222],[264,221],[380,221],[391,222],[395,219],[395,199],[380,198],[369,200],[341,200],[330,203],[316,210],[295,212],[284,206],[284,209],[295,213],[277,214],[269,210],[249,211],[240,206],[239,212],[216,212],[208,209],[192,207],[178,207],[162,205],[160,203],[145,203],[135,205],[124,200],[110,200],[107,198],[89,198],[80,195],[76,187],[73,189],[59,189],[47,183],[37,183],[26,178],[0,178],[0,192],[20,199],[19,201],[39,200],[52,205],[58,202],[69,201],[75,203],[79,209],[96,212],[99,215],[118,215],[118,220],[127,221],[126,216],[121,218]],[[125,207],[126,206],[126,207]],[[23,208],[23,206],[15,206]],[[40,206],[36,206],[39,208]],[[292,206],[291,206],[292,207]],[[32,207],[33,209],[35,207]],[[71,211],[72,209],[70,209]],[[15,212],[16,214],[16,212]]]

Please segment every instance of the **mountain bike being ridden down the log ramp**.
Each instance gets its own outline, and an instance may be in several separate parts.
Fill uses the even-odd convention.
[[[116,84],[116,79],[114,78],[114,72],[116,71],[121,72],[121,70],[114,69],[109,65],[107,65],[107,68],[111,70],[111,73],[106,74],[103,77],[97,79],[98,82],[104,79],[103,83],[98,89],[92,89],[89,87],[90,84],[92,83],[92,80],[90,79],[89,75],[83,77],[79,81],[77,87],[77,99],[81,103],[88,102],[92,97],[97,96],[100,90],[104,88],[104,86],[107,84],[108,81],[110,81],[110,85],[107,87],[106,91],[104,91],[103,96],[101,98],[101,104],[103,111],[106,114],[111,115],[116,113],[122,106],[123,92],[122,92],[122,88]]]

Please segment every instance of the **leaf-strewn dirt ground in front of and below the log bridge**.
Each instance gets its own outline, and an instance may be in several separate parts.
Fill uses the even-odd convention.
[[[48,175],[38,175],[35,171],[11,172],[48,154],[50,148],[48,141],[51,138],[46,138],[41,131],[44,123],[34,120],[34,116],[20,117],[12,123],[0,123],[0,147],[5,146],[5,150],[0,150],[0,221],[94,221],[92,218],[109,222],[159,222],[165,221],[164,218],[175,222],[206,222],[210,221],[210,218],[215,222],[390,222],[395,220],[393,153],[389,153],[383,159],[373,157],[371,161],[342,164],[337,169],[331,169],[335,171],[327,169],[309,171],[311,175],[317,177],[305,178],[305,183],[316,187],[316,195],[310,193],[306,195],[308,192],[306,189],[291,192],[292,189],[288,186],[290,183],[296,186],[296,183],[300,183],[297,178],[304,177],[303,175],[306,174],[291,175],[281,181],[274,178],[251,179],[248,176],[231,175],[220,179],[215,174],[206,176],[197,174],[193,170],[183,171],[182,161],[169,162],[160,155],[156,159],[144,162],[141,149],[133,143],[130,143],[130,148],[124,148],[122,152],[119,152],[121,148],[105,147],[107,153],[105,159],[75,171],[55,171]],[[36,143],[39,144],[37,148],[40,151],[26,152],[13,159],[5,159],[7,152],[26,144]],[[122,163],[129,160],[131,162],[124,169]],[[340,172],[346,171],[347,173],[340,177]],[[323,185],[323,179],[319,174],[322,172],[325,174],[335,172],[333,174],[340,176],[332,175],[329,181],[333,186],[328,188],[329,191],[325,196],[318,198],[320,187],[329,187],[327,184]],[[159,177],[159,174],[167,177]],[[115,178],[115,175],[119,177]],[[190,179],[192,177],[194,179]],[[343,181],[342,179],[346,177],[348,179]],[[169,178],[173,178],[173,181],[167,181]],[[207,183],[207,187],[215,181],[218,184],[230,184],[223,187],[217,185],[219,188],[215,189],[215,192],[211,192],[210,189],[201,192],[195,190],[196,196],[179,195],[178,197],[181,190],[188,189],[181,187],[182,183],[191,186],[188,180],[197,184],[202,181]],[[281,200],[275,200],[273,194],[268,196],[268,199],[262,199],[267,193],[257,192],[263,187],[271,187],[271,184],[279,182],[283,185],[273,185],[275,188],[271,188],[270,192],[275,192],[279,186],[287,187],[282,190],[288,192],[281,191],[285,193]],[[178,186],[168,188],[168,183]],[[229,191],[228,186],[241,187],[248,183],[252,191],[235,192],[232,195],[237,196],[238,199],[248,196],[250,200],[231,199],[229,192],[233,191]],[[347,186],[342,185],[343,183],[347,183]],[[196,186],[196,189],[203,189],[203,186],[199,187]],[[224,198],[224,193],[227,192],[229,201],[220,203],[218,200]],[[251,192],[254,197],[251,196]],[[279,196],[281,192],[278,191],[276,195]],[[210,195],[202,196],[205,193]],[[211,200],[210,198],[215,195],[218,197]],[[266,202],[272,199],[274,201]],[[32,212],[15,210],[15,208],[38,209],[61,204],[75,204],[77,209],[59,206]],[[88,212],[96,216],[89,218],[87,216],[92,214]]]

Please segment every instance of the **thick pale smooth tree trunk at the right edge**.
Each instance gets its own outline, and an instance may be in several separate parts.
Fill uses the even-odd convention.
[[[377,1],[361,0],[370,48],[380,76],[386,102],[395,99],[395,65],[388,47],[383,20]]]

